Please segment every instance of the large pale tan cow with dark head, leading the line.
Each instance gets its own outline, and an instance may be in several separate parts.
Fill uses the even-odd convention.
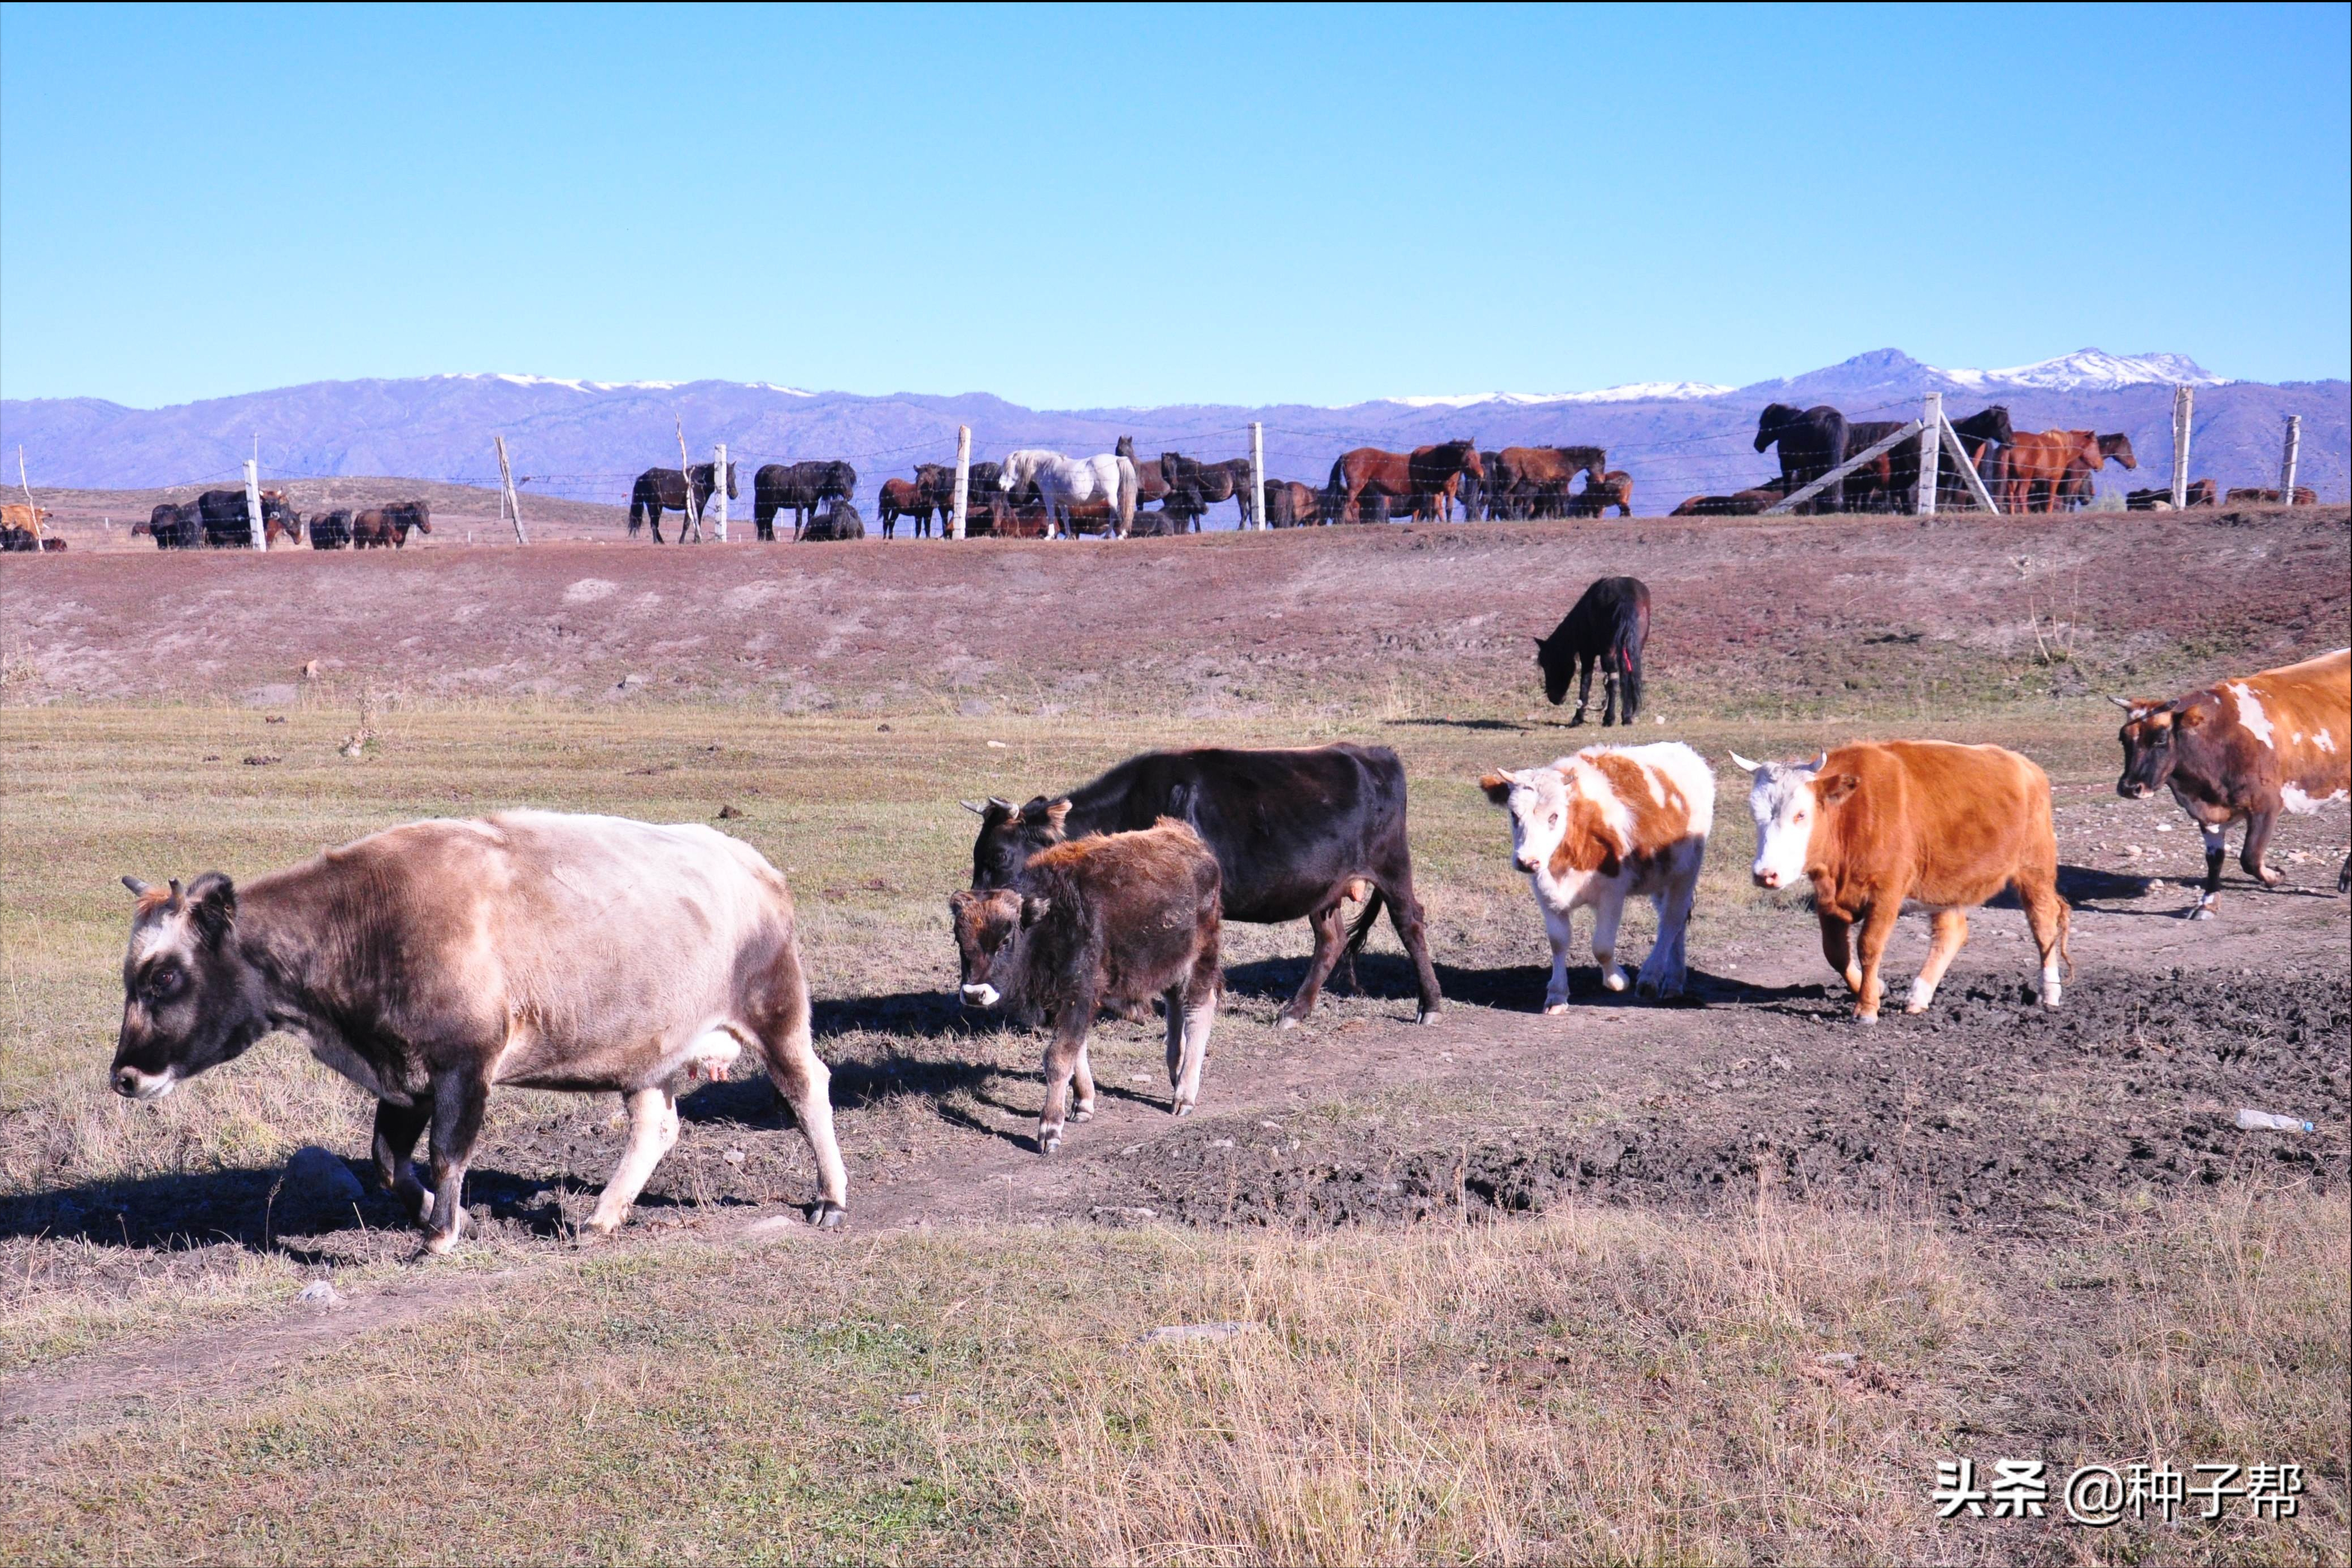
[[[793,893],[750,844],[687,823],[508,811],[388,827],[238,889],[139,896],[113,1084],[153,1100],[273,1030],[376,1095],[376,1171],[456,1246],[494,1084],[616,1091],[609,1234],[677,1143],[677,1093],[750,1046],[816,1154],[811,1222],[849,1213],[830,1074],[809,1044]],[[433,1190],[409,1164],[430,1124]]]

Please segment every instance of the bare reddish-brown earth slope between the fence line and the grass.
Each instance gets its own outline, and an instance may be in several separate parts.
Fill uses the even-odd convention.
[[[527,550],[435,534],[397,552],[12,555],[0,618],[12,701],[289,701],[315,661],[419,696],[1202,717],[1395,682],[1519,703],[1529,637],[1595,576],[1630,571],[1656,604],[1658,712],[1818,710],[1856,693],[1926,712],[2161,684],[2211,649],[2267,661],[2331,646],[2347,517],[1644,517]]]

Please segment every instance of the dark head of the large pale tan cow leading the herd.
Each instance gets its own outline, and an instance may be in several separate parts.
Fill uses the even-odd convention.
[[[238,947],[238,889],[205,872],[183,893],[136,877],[132,945],[122,954],[122,1034],[115,1093],[153,1100],[181,1079],[242,1056],[268,1034],[261,971]]]

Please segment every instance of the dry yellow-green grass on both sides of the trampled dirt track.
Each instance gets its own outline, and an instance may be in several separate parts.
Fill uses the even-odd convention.
[[[125,870],[247,872],[383,823],[524,802],[654,820],[734,806],[729,830],[790,870],[821,999],[943,990],[943,898],[969,844],[953,802],[1075,780],[1178,731],[562,705],[367,724],[346,757],[360,717],[334,705],[0,712],[7,1192],[365,1143],[358,1095],[282,1044],[160,1105],[103,1093]],[[1437,950],[1531,964],[1524,884],[1468,780],[1566,750],[1566,731],[1534,724],[1181,733],[1397,745]],[[2105,790],[2112,741],[2074,710],[1987,708],[1933,729],[2032,750],[2082,802],[2067,809]],[[1839,726],[1724,717],[1675,733],[1778,755]],[[1745,886],[1745,837],[1731,795],[1693,945],[1776,919]],[[1303,952],[1301,931],[1232,938],[1230,964]],[[1028,1072],[1023,1041],[978,1048]],[[539,1103],[560,1098],[506,1095],[494,1119]],[[195,1345],[167,1396],[24,1429],[9,1554],[2314,1561],[2345,1523],[2347,1222],[2340,1190],[2230,1182],[2063,1244],[1983,1241],[1766,1185],[1710,1215],[1566,1208],[1338,1234],[1016,1222],[637,1239],[607,1255],[487,1237],[428,1272],[430,1309],[221,1378],[207,1347],[318,1314],[292,1302],[315,1258],[7,1237],[0,1368],[59,1378]],[[343,1312],[416,1274],[397,1248],[334,1269]],[[1138,1345],[1152,1326],[1221,1321],[1249,1328]],[[2300,1455],[2312,1493],[2286,1526],[1938,1523],[1926,1495],[1950,1455],[1985,1472],[2044,1458],[2060,1476]]]

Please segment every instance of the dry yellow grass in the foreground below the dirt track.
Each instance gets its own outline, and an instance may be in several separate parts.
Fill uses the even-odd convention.
[[[1766,1197],[1708,1220],[647,1248],[42,1453],[12,1540],[82,1561],[2328,1561],[2347,1229],[2340,1199],[2225,1192],[2077,1248],[1962,1248]],[[1138,1345],[1228,1319],[1249,1328]],[[1950,1455],[2300,1460],[2310,1493],[2284,1523],[1938,1523]]]

